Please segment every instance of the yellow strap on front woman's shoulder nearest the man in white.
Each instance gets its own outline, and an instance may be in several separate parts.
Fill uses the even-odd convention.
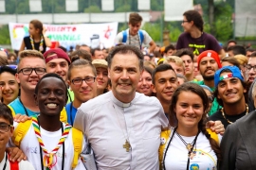
[[[170,137],[171,129],[163,130],[160,134],[160,146],[158,149],[158,155],[159,155],[159,167],[162,169],[162,161],[163,161],[163,153],[164,149],[166,147],[167,141]]]

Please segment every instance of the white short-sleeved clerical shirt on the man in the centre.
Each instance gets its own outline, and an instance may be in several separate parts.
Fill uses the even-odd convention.
[[[99,170],[156,170],[161,128],[168,124],[155,97],[136,93],[131,103],[124,104],[109,92],[83,103],[74,127],[88,138]],[[123,148],[126,139],[129,152]]]

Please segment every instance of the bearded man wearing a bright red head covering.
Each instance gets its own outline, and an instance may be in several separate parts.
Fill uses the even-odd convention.
[[[197,59],[198,69],[203,76],[202,81],[193,81],[199,85],[207,85],[211,91],[215,90],[214,74],[221,68],[221,63],[218,54],[215,51],[207,50],[201,53]],[[214,99],[209,115],[213,114],[219,109],[218,102]]]

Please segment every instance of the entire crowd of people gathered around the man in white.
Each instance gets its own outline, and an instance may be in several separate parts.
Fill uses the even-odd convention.
[[[17,65],[0,68],[0,168],[256,168],[256,52],[222,48],[195,10],[163,48],[141,22],[131,13],[107,55],[46,50],[46,29],[30,22]]]

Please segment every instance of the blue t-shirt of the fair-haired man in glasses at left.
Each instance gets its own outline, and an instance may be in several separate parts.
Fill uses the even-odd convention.
[[[19,97],[17,97],[15,100],[13,100],[11,103],[9,103],[9,108],[14,111],[14,114],[12,113],[12,115],[15,115],[15,114],[26,115],[26,110],[27,110],[28,116],[33,116],[33,115],[39,114],[39,112],[28,110],[25,106],[23,106]]]

